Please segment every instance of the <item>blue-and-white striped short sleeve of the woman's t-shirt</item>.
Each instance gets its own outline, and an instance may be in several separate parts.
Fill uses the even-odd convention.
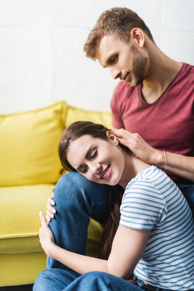
[[[120,206],[120,222],[129,228],[152,230],[166,216],[166,203],[158,190],[149,182],[126,188]]]

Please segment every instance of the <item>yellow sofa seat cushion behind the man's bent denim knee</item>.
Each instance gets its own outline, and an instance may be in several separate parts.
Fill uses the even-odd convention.
[[[0,253],[30,253],[43,251],[38,237],[41,227],[39,211],[46,214],[46,201],[54,184],[0,187]],[[99,245],[103,227],[91,219],[88,228],[87,252]]]

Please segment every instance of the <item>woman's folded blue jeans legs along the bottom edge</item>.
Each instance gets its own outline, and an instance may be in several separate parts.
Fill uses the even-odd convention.
[[[72,271],[50,269],[37,277],[33,291],[141,291],[138,286],[104,272],[78,275]]]

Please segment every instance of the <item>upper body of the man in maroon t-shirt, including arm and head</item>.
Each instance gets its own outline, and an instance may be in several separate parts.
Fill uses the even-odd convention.
[[[128,8],[98,18],[86,56],[120,78],[113,100],[113,132],[142,161],[172,178],[194,212],[194,66],[166,56],[144,21]]]

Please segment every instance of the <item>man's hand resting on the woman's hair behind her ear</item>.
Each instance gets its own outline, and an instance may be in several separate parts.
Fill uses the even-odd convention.
[[[163,158],[163,152],[149,146],[138,133],[131,133],[126,129],[112,129],[121,145],[129,147],[135,156],[143,162],[157,165]]]

